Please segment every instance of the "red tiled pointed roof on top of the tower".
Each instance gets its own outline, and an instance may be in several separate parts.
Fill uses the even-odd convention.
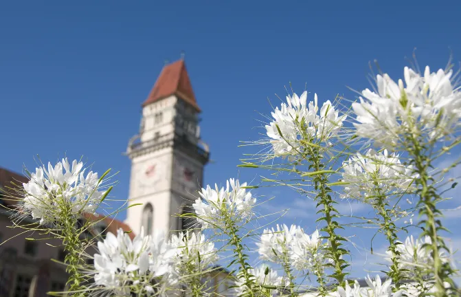
[[[150,91],[146,101],[142,104],[145,107],[147,104],[157,102],[168,96],[176,95],[188,104],[190,104],[197,112],[200,112],[200,107],[197,104],[190,83],[189,75],[185,69],[184,59],[165,65],[161,69],[161,73],[155,82],[155,85]]]

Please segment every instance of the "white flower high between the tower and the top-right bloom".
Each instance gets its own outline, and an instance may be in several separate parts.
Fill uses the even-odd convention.
[[[300,97],[297,94],[286,96],[286,101],[288,104],[282,103],[280,109],[276,107],[271,113],[273,121],[265,126],[276,155],[296,154],[301,139],[329,144],[328,140],[337,134],[346,120],[346,115],[339,116],[329,100],[318,115],[317,94],[314,102],[308,104],[307,91]]]

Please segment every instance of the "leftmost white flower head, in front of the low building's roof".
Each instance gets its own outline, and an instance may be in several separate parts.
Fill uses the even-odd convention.
[[[54,167],[48,163],[48,170],[45,166],[36,168],[30,181],[23,184],[25,197],[21,210],[33,219],[40,219],[40,223],[55,221],[61,212],[74,216],[81,212],[93,214],[104,191],[100,190],[98,173],[90,171],[85,176],[82,167],[83,163],[76,160],[70,166],[66,158]]]

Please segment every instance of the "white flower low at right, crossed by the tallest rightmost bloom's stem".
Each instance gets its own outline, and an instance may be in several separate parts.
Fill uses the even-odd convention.
[[[398,252],[398,268],[403,271],[403,275],[407,278],[412,278],[416,275],[416,270],[424,270],[427,267],[431,267],[434,263],[434,259],[431,256],[431,250],[423,247],[425,244],[431,244],[431,238],[425,236],[424,239],[414,240],[413,236],[407,237],[405,243],[396,245]],[[386,254],[392,257],[392,252],[387,250]],[[448,258],[444,252],[440,251],[440,260],[447,262]],[[387,261],[391,261],[390,258],[386,258]]]

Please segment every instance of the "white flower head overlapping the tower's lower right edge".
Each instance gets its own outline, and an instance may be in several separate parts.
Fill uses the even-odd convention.
[[[197,221],[202,228],[225,228],[228,219],[235,223],[246,221],[253,215],[256,198],[251,197],[251,192],[244,188],[247,183],[240,184],[238,179],[229,179],[226,188],[212,189],[210,186],[202,188],[192,204],[197,215]]]

